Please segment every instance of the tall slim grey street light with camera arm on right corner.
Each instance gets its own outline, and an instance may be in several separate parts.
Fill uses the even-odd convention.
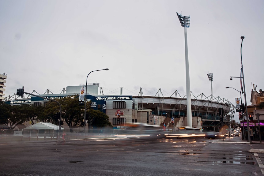
[[[240,39],[242,39],[241,41],[241,47],[240,47],[240,57],[241,57],[241,72],[240,72],[240,84],[241,84],[241,91],[242,93],[244,93],[244,98],[245,98],[245,107],[246,107],[246,118],[247,118],[247,136],[248,136],[248,142],[251,142],[250,139],[250,133],[249,133],[249,122],[248,122],[248,112],[247,112],[247,97],[246,97],[246,88],[245,88],[245,77],[244,77],[244,71],[243,71],[243,63],[242,63],[242,43],[243,43],[243,39],[245,39],[244,36],[241,36]],[[242,73],[242,75],[241,75]],[[237,77],[235,77],[237,78]],[[243,91],[243,87],[242,87],[242,79],[243,78],[243,87],[244,87],[244,91]],[[230,77],[230,80],[232,80],[232,77]],[[244,123],[244,122],[243,122]]]

